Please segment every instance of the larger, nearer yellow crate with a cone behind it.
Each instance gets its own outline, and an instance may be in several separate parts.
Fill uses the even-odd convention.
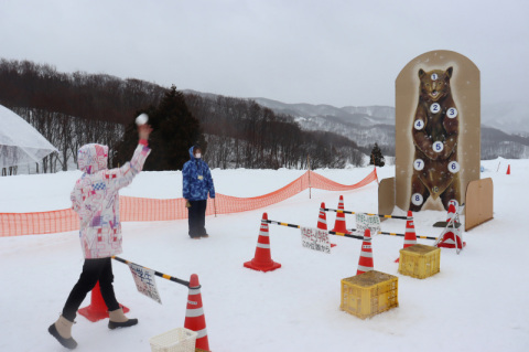
[[[376,270],[342,279],[339,308],[360,319],[399,306],[398,277]]]

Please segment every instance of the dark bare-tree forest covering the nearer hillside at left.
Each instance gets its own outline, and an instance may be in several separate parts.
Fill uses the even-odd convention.
[[[104,143],[116,150],[131,131],[136,116],[156,109],[171,92],[134,78],[67,74],[47,64],[8,60],[0,60],[0,104],[29,121],[60,150],[36,164],[36,172],[75,168],[77,150],[84,143]],[[304,169],[309,163],[311,168],[341,168],[363,162],[366,151],[350,139],[333,132],[303,131],[291,116],[276,114],[256,102],[183,96],[186,109],[199,121],[207,143],[204,158],[212,168]],[[110,153],[109,167],[117,164],[116,153]],[[174,164],[170,169],[180,168]],[[15,173],[17,168],[2,170],[2,174]]]

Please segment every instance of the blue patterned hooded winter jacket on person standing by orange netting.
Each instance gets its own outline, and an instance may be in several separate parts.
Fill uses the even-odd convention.
[[[183,195],[188,201],[207,200],[207,193],[210,198],[215,198],[215,186],[209,167],[207,162],[193,156],[194,148],[190,148],[191,160],[184,163],[182,170]]]

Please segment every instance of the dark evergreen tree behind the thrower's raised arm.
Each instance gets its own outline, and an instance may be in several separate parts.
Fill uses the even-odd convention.
[[[182,170],[184,162],[190,160],[188,149],[192,146],[201,145],[203,152],[206,151],[207,145],[201,124],[190,113],[184,95],[177,92],[174,85],[165,93],[158,108],[149,107],[140,113],[149,115],[149,125],[153,128],[149,140],[152,153],[145,161],[144,170]],[[138,143],[136,129],[134,122],[126,128],[117,151],[120,163],[129,160]]]

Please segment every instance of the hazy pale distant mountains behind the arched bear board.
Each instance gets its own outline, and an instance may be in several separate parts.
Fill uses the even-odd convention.
[[[188,90],[212,97],[214,95]],[[377,142],[395,154],[395,108],[287,104],[268,98],[249,98],[278,114],[290,115],[304,130],[335,132],[359,147]],[[529,158],[529,111],[522,103],[487,104],[482,107],[482,159]]]

